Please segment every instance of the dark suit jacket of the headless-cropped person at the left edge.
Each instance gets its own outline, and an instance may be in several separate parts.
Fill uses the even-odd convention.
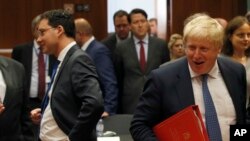
[[[34,141],[24,68],[14,60],[0,57],[0,70],[7,87],[3,101],[5,111],[0,114],[0,140]]]

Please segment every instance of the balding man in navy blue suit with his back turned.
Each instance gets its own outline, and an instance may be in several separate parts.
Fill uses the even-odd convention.
[[[102,117],[116,114],[118,105],[118,85],[111,52],[103,44],[95,40],[89,22],[83,18],[75,20],[76,42],[82,50],[93,59],[104,98]]]

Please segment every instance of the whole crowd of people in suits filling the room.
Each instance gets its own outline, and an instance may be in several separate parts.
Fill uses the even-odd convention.
[[[229,141],[230,125],[249,121],[247,15],[227,22],[195,13],[168,43],[143,9],[118,10],[113,23],[115,32],[98,41],[87,19],[65,10],[32,20],[33,41],[14,47],[12,59],[0,57],[1,141],[96,141],[98,120],[115,114],[134,116],[135,141],[154,141],[153,127],[190,105],[211,140]]]

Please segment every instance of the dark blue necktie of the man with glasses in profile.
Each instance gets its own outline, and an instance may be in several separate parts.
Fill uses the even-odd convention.
[[[43,97],[43,101],[42,101],[42,104],[41,104],[41,113],[42,114],[43,114],[45,108],[47,107],[47,105],[49,103],[49,91],[50,91],[50,88],[52,86],[52,83],[54,82],[54,77],[56,75],[57,67],[58,67],[59,64],[60,64],[60,61],[56,60],[55,64],[53,65],[53,70],[52,70],[52,75],[51,75],[51,81],[49,83],[48,89],[46,91],[45,96]]]

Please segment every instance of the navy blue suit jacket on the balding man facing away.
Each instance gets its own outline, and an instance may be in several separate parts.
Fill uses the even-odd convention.
[[[115,114],[118,106],[118,85],[110,51],[94,40],[89,44],[86,52],[96,66],[104,97],[104,109],[111,115]]]

